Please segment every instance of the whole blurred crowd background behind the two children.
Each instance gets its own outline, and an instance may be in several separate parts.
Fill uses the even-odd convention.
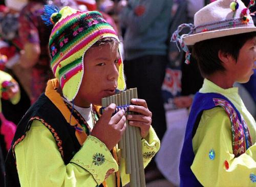
[[[161,139],[157,156],[145,169],[147,186],[179,186],[179,157],[189,107],[203,78],[197,62],[170,42],[180,24],[210,0],[0,0],[0,186],[4,160],[16,125],[53,78],[48,38],[52,27],[41,20],[45,4],[81,11],[98,10],[119,35],[128,88],[137,87],[153,112],[152,125]],[[249,3],[244,1],[245,4]],[[206,15],[207,16],[207,15]],[[184,31],[186,33],[187,31]],[[256,73],[256,72],[255,72]],[[256,117],[256,75],[236,83]]]

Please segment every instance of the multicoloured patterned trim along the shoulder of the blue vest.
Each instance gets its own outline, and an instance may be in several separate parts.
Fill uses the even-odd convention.
[[[222,106],[229,116],[231,122],[233,154],[238,157],[252,145],[247,125],[243,120],[242,115],[242,122],[240,122],[237,112],[226,100],[216,98],[213,100],[215,105]]]

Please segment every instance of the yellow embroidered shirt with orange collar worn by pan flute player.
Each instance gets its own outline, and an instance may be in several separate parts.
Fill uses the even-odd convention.
[[[56,80],[49,81],[45,95],[69,122],[70,111],[65,104],[63,105],[62,98],[56,92],[57,86]],[[75,123],[77,122],[72,116],[71,126]],[[124,172],[124,160],[120,157],[119,149],[116,149],[118,159],[115,159],[115,155],[113,156],[99,139],[91,135],[87,137],[85,132],[76,132],[81,148],[65,165],[60,148],[56,144],[56,137],[46,125],[42,120],[33,119],[24,139],[14,147],[21,186],[90,187],[102,182],[104,186],[116,186],[117,171],[120,172],[122,185],[129,182],[129,175]],[[142,139],[141,145],[145,167],[160,148],[160,141],[152,127],[148,136]]]

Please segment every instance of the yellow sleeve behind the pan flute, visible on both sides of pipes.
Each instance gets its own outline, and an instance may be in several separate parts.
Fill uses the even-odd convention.
[[[160,149],[160,140],[152,126],[150,127],[150,132],[145,139],[141,140],[141,147],[143,154],[143,165],[145,168]],[[130,177],[125,173],[125,159],[120,156],[120,150],[118,151],[118,157],[120,158],[122,185],[125,185],[130,182]]]

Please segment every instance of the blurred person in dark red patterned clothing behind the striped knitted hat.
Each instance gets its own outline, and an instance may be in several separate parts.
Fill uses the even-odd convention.
[[[24,49],[20,52],[19,63],[29,69],[29,96],[31,103],[45,90],[47,81],[53,77],[50,69],[48,39],[51,27],[41,20],[46,1],[29,0],[19,16],[18,33]]]

